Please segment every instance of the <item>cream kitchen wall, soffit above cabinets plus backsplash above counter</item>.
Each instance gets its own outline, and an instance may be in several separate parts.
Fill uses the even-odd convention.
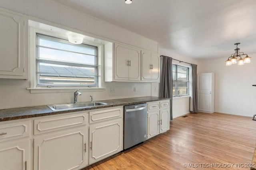
[[[155,47],[158,47],[158,43],[155,41],[111,23],[97,20],[52,0],[4,0],[1,1],[0,7],[74,28],[96,38],[113,39],[157,52]],[[150,83],[108,82],[103,83],[103,87],[106,87],[103,91],[88,92],[81,89],[82,95],[78,96],[78,102],[90,101],[90,95],[94,96],[94,100],[151,95]],[[110,93],[110,87],[115,88],[115,93]],[[136,87],[136,92],[133,91],[133,87]],[[26,90],[27,88],[30,88],[30,80],[0,79],[0,109],[73,102],[74,92],[31,94],[30,90]]]

